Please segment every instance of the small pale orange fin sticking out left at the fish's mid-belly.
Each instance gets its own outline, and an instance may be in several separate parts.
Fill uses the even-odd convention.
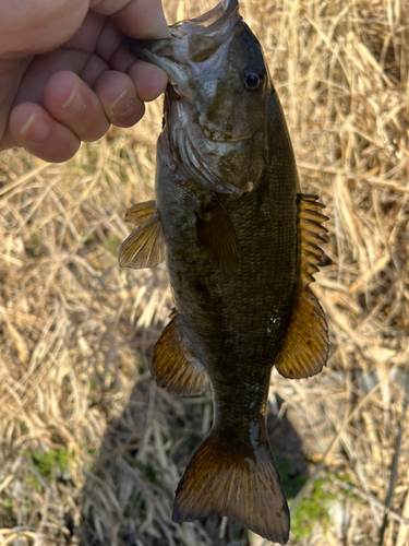
[[[161,223],[156,202],[147,201],[131,206],[125,219],[137,228],[122,242],[118,252],[121,268],[140,270],[155,268],[165,260],[165,245]]]

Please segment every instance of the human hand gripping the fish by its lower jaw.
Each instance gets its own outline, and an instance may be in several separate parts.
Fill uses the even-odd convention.
[[[0,151],[64,162],[136,123],[167,76],[127,36],[169,36],[160,0],[0,0]]]

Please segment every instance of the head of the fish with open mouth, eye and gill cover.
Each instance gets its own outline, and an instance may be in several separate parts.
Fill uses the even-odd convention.
[[[134,49],[169,76],[165,132],[171,155],[208,189],[251,191],[268,159],[272,82],[238,1],[175,24],[170,35]]]

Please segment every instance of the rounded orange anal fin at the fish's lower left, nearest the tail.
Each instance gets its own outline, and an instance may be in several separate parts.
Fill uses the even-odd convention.
[[[176,396],[194,396],[205,390],[206,371],[185,345],[176,313],[154,347],[151,371],[158,385]]]

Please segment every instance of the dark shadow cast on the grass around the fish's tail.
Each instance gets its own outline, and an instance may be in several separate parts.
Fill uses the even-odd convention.
[[[145,373],[111,423],[83,488],[81,521],[67,521],[81,546],[248,545],[245,529],[216,515],[171,521],[175,489],[212,420],[212,397],[176,399]],[[306,479],[301,441],[284,416],[267,430],[285,494]],[[70,520],[70,517],[69,517]],[[221,533],[220,533],[221,530]],[[220,536],[220,534],[222,536]]]

